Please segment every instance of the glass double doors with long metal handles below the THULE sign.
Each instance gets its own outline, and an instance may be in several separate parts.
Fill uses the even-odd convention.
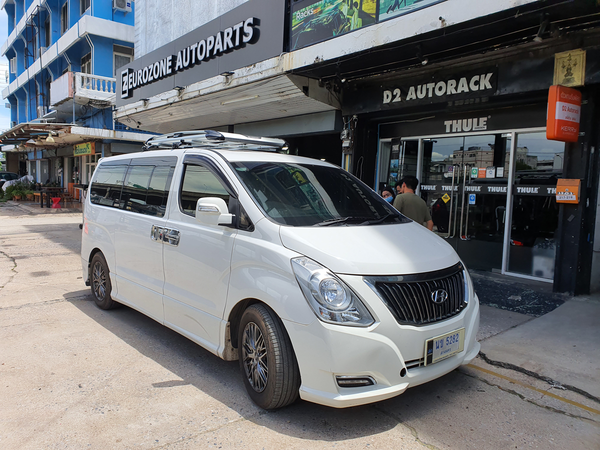
[[[502,271],[510,134],[423,142],[421,197],[466,265]]]

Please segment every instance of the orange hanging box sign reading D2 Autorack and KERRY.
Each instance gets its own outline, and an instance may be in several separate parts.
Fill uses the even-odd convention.
[[[550,86],[546,137],[561,142],[577,142],[581,116],[581,92],[565,86]]]

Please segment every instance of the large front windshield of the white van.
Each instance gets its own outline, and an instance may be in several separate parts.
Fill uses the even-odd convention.
[[[289,226],[342,226],[410,220],[358,178],[318,164],[231,163],[268,217]]]

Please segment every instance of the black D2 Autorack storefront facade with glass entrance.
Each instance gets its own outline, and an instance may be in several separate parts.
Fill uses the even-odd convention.
[[[577,48],[555,41],[349,82],[353,173],[378,192],[417,176],[434,232],[470,268],[589,292],[600,171],[595,42],[582,36]],[[587,56],[580,138],[547,140],[555,55],[578,49]],[[556,202],[560,178],[581,179],[580,203]]]

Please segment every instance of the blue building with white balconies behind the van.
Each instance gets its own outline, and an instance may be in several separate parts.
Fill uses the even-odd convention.
[[[135,2],[2,0],[10,62],[0,134],[8,170],[69,188],[87,184],[100,157],[148,139],[113,121],[116,71],[133,61]],[[70,186],[71,185],[71,186]]]

